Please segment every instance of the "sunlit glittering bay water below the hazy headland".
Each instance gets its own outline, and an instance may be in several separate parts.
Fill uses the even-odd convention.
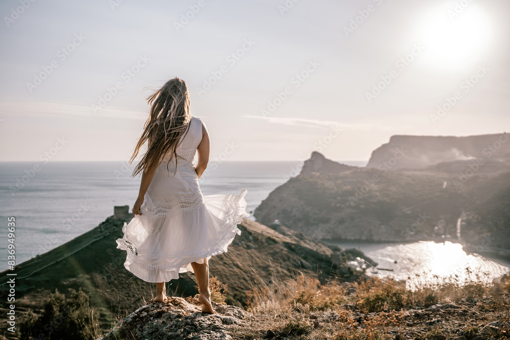
[[[376,261],[377,273],[369,268],[367,274],[406,280],[406,286],[410,289],[445,281],[459,284],[470,281],[489,283],[510,270],[510,264],[504,261],[467,254],[458,243],[420,241],[401,245],[336,244],[342,248],[359,248]]]

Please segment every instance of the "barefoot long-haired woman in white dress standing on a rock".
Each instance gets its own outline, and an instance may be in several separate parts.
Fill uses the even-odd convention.
[[[117,248],[125,250],[124,267],[147,282],[156,282],[153,301],[166,301],[165,282],[179,273],[195,273],[202,312],[214,313],[209,291],[211,256],[227,251],[246,213],[239,195],[203,196],[198,178],[209,161],[206,125],[189,112],[186,83],[175,77],[147,98],[149,117],[130,162],[142,145],[147,152],[133,171],[142,173],[133,206]],[[196,166],[193,164],[198,153]]]

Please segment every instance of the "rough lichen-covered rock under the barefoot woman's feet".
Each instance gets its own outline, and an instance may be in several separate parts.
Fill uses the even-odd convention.
[[[234,306],[213,302],[214,314],[202,313],[195,298],[170,296],[165,302],[149,301],[126,316],[106,335],[96,340],[231,339],[232,325],[242,324],[251,314]]]

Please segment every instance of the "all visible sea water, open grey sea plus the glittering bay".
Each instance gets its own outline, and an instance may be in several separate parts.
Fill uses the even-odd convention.
[[[362,167],[367,163],[338,162]],[[199,185],[203,195],[239,194],[246,189],[248,219],[254,220],[253,210],[272,190],[297,175],[301,166],[300,161],[225,161],[208,167],[208,171],[200,177]],[[115,205],[129,205],[131,211],[141,180],[140,176],[131,176],[133,168],[120,161],[0,162],[0,230],[4,232],[4,241],[0,242],[0,253],[4,254],[0,256],[0,271],[8,266],[8,239],[11,238],[7,229],[8,218],[15,218],[15,261],[20,264],[93,229],[113,215]],[[424,280],[427,277],[431,280],[438,274],[455,275],[466,264],[489,272],[487,280],[510,270],[510,263],[467,254],[462,245],[455,243],[340,245],[344,248],[357,247],[382,264],[379,268],[390,269],[372,269],[374,275],[395,275],[401,279],[407,278],[410,273],[413,276],[426,273]],[[473,257],[475,260],[472,260]],[[450,259],[446,264],[445,258]],[[452,258],[458,260],[455,262]]]

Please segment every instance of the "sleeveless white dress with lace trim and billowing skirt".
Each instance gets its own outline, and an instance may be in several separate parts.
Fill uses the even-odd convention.
[[[191,262],[227,251],[246,213],[247,190],[239,195],[203,196],[193,159],[202,139],[202,122],[192,117],[175,159],[169,154],[158,166],[140,207],[140,215],[124,223],[117,248],[125,250],[124,267],[147,282],[167,282],[193,272]]]

